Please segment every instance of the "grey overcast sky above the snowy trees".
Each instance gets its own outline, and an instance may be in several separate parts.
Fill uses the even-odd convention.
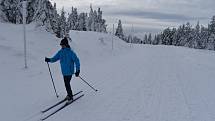
[[[57,8],[63,6],[66,11],[77,7],[78,12],[88,12],[90,4],[93,9],[103,11],[111,30],[118,20],[122,20],[127,32],[157,33],[166,27],[178,27],[191,22],[193,25],[207,25],[215,15],[215,0],[51,0]],[[133,26],[133,27],[132,27]],[[132,29],[133,28],[133,29]]]

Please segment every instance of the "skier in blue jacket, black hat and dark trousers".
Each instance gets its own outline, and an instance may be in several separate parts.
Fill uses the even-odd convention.
[[[76,53],[70,48],[66,37],[61,40],[60,45],[62,48],[54,55],[54,57],[52,58],[45,57],[45,62],[54,63],[60,60],[61,71],[63,74],[64,84],[67,91],[67,96],[65,99],[70,101],[73,100],[73,93],[70,81],[72,79],[73,74],[75,74],[76,77],[79,77],[80,61]],[[76,71],[74,68],[76,69]]]

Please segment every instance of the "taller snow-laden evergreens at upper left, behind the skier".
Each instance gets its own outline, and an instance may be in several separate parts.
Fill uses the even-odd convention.
[[[1,0],[1,20],[22,24],[22,1]],[[49,0],[27,0],[26,22],[28,24],[35,22],[38,26],[45,26],[47,31],[55,33],[59,38],[67,35],[70,30],[107,32],[106,20],[102,18],[100,8],[96,11],[90,6],[89,13],[78,13],[77,8],[73,7],[70,13],[66,13],[62,8],[58,14],[56,3],[52,5]]]

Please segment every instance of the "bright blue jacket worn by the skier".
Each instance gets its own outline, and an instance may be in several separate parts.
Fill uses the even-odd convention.
[[[50,58],[50,62],[54,63],[60,60],[61,71],[63,76],[70,76],[80,70],[80,61],[77,55],[70,48],[60,49],[54,57]],[[75,66],[74,66],[75,65]]]

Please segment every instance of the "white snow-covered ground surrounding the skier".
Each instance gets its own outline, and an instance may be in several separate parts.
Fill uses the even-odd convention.
[[[132,45],[94,32],[71,32],[81,76],[74,92],[85,96],[47,121],[214,121],[215,53],[183,47]],[[0,23],[0,120],[38,121],[39,112],[66,95],[59,63],[44,57],[60,40],[42,28],[27,27],[28,69],[24,69],[21,25]],[[53,111],[53,110],[52,110]],[[50,111],[51,112],[51,111]]]

